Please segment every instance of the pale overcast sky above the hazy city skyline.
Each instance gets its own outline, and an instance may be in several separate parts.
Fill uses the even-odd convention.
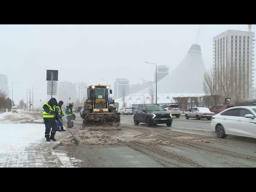
[[[248,25],[0,25],[0,74],[13,86],[16,103],[26,88],[37,88],[34,100],[47,99],[46,70],[59,70],[59,82],[130,84],[154,79],[154,65],[170,71],[198,44],[206,68],[212,66],[213,37]],[[252,26],[253,30],[254,26]],[[11,90],[11,84],[9,84]],[[36,102],[35,102],[36,104]]]

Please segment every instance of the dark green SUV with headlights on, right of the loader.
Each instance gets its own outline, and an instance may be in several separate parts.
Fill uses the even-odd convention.
[[[140,105],[134,110],[134,124],[146,123],[149,127],[154,124],[172,125],[172,114],[156,104]]]

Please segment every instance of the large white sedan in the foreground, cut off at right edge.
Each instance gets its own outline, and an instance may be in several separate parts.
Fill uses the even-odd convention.
[[[228,108],[212,117],[211,128],[218,138],[227,135],[256,138],[256,106]]]

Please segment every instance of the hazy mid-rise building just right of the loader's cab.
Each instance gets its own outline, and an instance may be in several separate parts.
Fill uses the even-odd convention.
[[[114,83],[114,99],[121,98],[129,94],[130,82],[126,78],[117,78]]]

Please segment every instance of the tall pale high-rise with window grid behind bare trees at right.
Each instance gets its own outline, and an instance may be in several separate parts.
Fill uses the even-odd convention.
[[[232,68],[234,77],[242,81],[242,99],[252,99],[254,32],[227,30],[215,36],[213,38],[213,54],[215,76],[225,81],[227,71]],[[217,87],[220,87],[220,84]]]

